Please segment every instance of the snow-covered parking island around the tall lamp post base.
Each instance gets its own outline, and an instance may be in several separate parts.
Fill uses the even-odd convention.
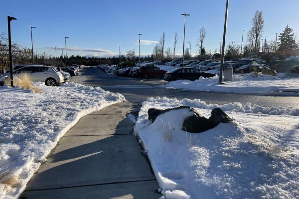
[[[276,76],[251,74],[233,75],[232,82],[218,83],[219,76],[196,81],[178,80],[160,87],[190,91],[207,91],[231,94],[252,94],[271,96],[299,96],[299,78],[279,78]]]

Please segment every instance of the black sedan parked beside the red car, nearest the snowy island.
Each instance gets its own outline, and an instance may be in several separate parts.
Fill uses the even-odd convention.
[[[168,73],[165,73],[164,80],[174,81],[174,80],[198,80],[199,77],[210,78],[214,77],[213,73],[206,73],[194,68],[179,68]]]

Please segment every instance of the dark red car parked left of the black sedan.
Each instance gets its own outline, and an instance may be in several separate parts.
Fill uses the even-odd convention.
[[[167,71],[163,71],[155,66],[143,66],[133,73],[133,77],[140,78],[163,78]]]

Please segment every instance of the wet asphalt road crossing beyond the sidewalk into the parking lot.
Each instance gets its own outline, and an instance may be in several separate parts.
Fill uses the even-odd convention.
[[[273,97],[219,94],[198,91],[183,91],[159,88],[158,85],[166,82],[158,79],[136,79],[108,75],[98,68],[82,68],[81,76],[75,76],[72,81],[89,86],[99,86],[104,90],[123,94],[132,103],[141,103],[150,97],[167,97],[176,99],[200,99],[206,103],[226,104],[250,102],[261,106],[299,107],[298,97]]]

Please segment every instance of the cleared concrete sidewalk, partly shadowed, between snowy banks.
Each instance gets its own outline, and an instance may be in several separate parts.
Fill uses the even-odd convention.
[[[58,142],[21,199],[158,199],[158,184],[123,102],[84,116]]]

